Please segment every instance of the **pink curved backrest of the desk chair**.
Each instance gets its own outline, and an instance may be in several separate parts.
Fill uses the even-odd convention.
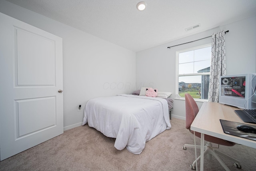
[[[196,101],[190,94],[185,94],[186,104],[186,129],[190,129],[191,123],[194,121],[199,109]]]

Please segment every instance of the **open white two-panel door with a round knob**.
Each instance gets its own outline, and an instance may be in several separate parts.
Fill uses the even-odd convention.
[[[0,160],[63,133],[62,38],[0,13]]]

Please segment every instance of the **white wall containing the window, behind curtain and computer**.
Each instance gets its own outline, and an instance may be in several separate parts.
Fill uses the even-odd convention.
[[[226,34],[227,75],[256,73],[256,16],[226,24],[212,30],[162,44],[136,53],[137,85],[157,88],[158,91],[171,91],[175,97],[175,59],[176,51],[211,43],[211,38],[191,42],[211,36],[213,32],[229,30]],[[175,34],[175,33],[174,33]],[[202,102],[197,102],[201,107]],[[174,99],[172,117],[185,119],[184,100]]]

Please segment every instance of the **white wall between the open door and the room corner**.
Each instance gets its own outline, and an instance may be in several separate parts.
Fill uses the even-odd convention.
[[[89,99],[136,89],[135,52],[4,0],[0,0],[0,12],[63,39],[65,130],[82,125]]]

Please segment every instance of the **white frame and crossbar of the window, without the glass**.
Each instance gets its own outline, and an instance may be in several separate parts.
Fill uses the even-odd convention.
[[[212,44],[204,44],[204,45],[200,45],[200,46],[194,46],[192,48],[186,48],[186,49],[182,49],[182,50],[178,50],[176,51],[176,80],[175,80],[175,98],[174,99],[180,99],[180,100],[185,100],[185,97],[180,97],[179,95],[179,76],[204,76],[204,75],[210,75],[210,72],[202,72],[202,73],[193,73],[193,74],[179,74],[179,54],[183,53],[183,52],[188,52],[191,50],[198,50],[198,49],[202,49],[202,48],[208,48],[208,47],[212,47]],[[209,99],[209,97],[208,97]],[[208,101],[208,99],[196,99],[194,98],[195,101]]]

